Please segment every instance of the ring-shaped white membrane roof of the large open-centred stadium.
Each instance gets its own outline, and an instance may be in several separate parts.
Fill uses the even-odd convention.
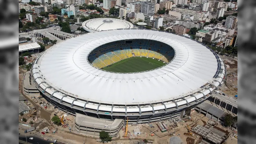
[[[124,39],[160,41],[172,46],[176,55],[164,67],[129,74],[102,71],[88,62],[88,54],[96,47]],[[32,75],[50,94],[57,90],[99,103],[146,104],[188,96],[202,90],[206,83],[218,86],[225,71],[213,78],[217,68],[213,53],[196,41],[167,32],[122,29],[88,33],[52,46],[36,60]],[[53,96],[61,99],[59,92]],[[63,100],[70,101],[66,97]]]

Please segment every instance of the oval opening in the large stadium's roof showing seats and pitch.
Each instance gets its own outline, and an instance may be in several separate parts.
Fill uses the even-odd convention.
[[[140,73],[161,68],[174,56],[174,49],[163,42],[129,39],[100,45],[88,54],[87,60],[103,71]]]

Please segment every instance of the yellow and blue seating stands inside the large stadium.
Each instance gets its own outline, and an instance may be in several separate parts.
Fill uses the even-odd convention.
[[[104,68],[120,60],[135,56],[151,57],[166,63],[172,60],[174,50],[167,44],[157,43],[154,40],[134,39],[132,44],[116,41],[97,47],[88,56],[89,62],[97,68]]]

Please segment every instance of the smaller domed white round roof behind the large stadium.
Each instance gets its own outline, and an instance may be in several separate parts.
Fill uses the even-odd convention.
[[[82,27],[88,32],[95,32],[120,28],[129,29],[133,28],[133,24],[126,20],[98,18],[84,21]]]

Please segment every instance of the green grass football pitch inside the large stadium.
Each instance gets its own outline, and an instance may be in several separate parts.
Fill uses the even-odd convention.
[[[132,57],[125,60],[118,61],[109,67],[102,68],[103,70],[120,73],[131,73],[146,71],[165,65],[163,61],[158,61],[146,57]]]

